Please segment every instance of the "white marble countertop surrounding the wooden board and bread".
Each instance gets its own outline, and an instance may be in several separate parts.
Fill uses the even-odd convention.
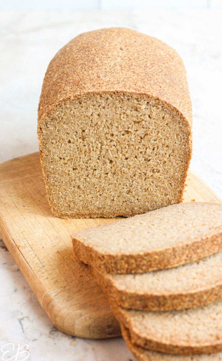
[[[163,40],[182,57],[193,106],[191,168],[222,197],[221,18],[219,9],[0,13],[0,162],[38,151],[38,101],[58,49],[84,31],[130,27]],[[56,330],[2,241],[0,251],[0,348],[14,344],[5,358],[0,352],[1,360],[16,355],[18,344],[29,345],[29,361],[135,360],[121,338],[85,340]]]

